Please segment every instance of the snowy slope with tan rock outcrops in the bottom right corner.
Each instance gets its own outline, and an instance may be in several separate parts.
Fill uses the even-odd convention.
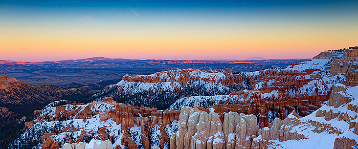
[[[337,84],[333,88],[329,101],[318,110],[302,118],[290,114],[284,121],[275,119],[271,128],[262,129],[258,142],[266,148],[357,149],[358,86]],[[283,137],[282,130],[294,132],[296,137]],[[296,147],[287,141],[290,139],[298,140]]]

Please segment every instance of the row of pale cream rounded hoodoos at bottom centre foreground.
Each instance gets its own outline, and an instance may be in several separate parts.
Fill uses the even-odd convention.
[[[255,115],[229,112],[224,115],[222,122],[220,115],[213,109],[207,113],[195,106],[183,107],[181,111],[189,111],[190,115],[186,120],[187,115],[180,113],[180,128],[170,139],[170,142],[176,142],[176,146],[171,146],[171,149],[240,149],[244,146],[249,147],[252,138],[258,136],[259,127]],[[186,134],[181,135],[186,130]],[[184,144],[181,140],[184,140]]]

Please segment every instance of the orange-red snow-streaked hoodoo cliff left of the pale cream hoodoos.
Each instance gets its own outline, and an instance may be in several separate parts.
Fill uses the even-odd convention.
[[[25,123],[26,132],[19,141],[38,142],[42,149],[89,143],[92,138],[110,140],[115,149],[150,149],[154,145],[168,148],[169,137],[177,130],[179,120],[176,110],[118,104],[112,98],[86,105],[58,101],[35,111],[35,115],[34,121]]]

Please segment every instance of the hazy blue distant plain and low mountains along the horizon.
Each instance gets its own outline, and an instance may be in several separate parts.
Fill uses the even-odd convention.
[[[125,74],[148,75],[184,68],[257,71],[307,60],[249,59],[252,60],[130,60],[95,57],[57,62],[0,61],[0,75],[15,77],[30,85],[87,87],[96,92],[106,85],[119,82]]]

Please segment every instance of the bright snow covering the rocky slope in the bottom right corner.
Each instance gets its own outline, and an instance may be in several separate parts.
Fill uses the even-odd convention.
[[[342,84],[336,84],[336,86],[345,87]],[[343,96],[351,97],[352,101],[347,104],[343,104],[339,107],[323,105],[318,110],[332,111],[334,113],[345,113],[349,117],[358,117],[358,113],[348,110],[348,105],[357,105],[358,99],[358,86],[349,87],[346,92],[340,92]],[[292,113],[287,118],[296,119],[300,122],[298,126],[281,126],[291,128],[290,132],[297,132],[304,135],[307,139],[301,140],[287,140],[280,142],[279,140],[269,140],[268,149],[275,149],[277,147],[283,149],[332,149],[334,148],[334,142],[336,138],[346,137],[354,139],[358,142],[358,135],[353,133],[353,128],[349,129],[350,122],[357,122],[358,119],[349,119],[348,122],[344,120],[338,120],[338,117],[327,121],[324,116],[316,117],[317,110],[310,115],[302,118],[295,117]],[[313,122],[312,125],[310,122]],[[269,128],[263,128],[263,130],[269,130]],[[320,133],[313,130],[324,130]],[[260,135],[261,136],[261,135]]]

